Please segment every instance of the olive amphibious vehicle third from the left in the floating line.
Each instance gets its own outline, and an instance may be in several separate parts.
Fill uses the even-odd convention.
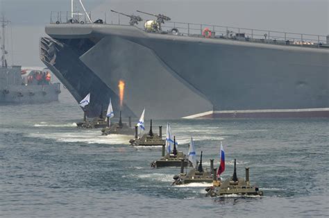
[[[138,126],[135,126],[135,138],[129,141],[131,146],[165,146],[165,140],[162,140],[162,126],[159,126],[159,135],[152,131],[152,119],[149,133],[138,137]]]

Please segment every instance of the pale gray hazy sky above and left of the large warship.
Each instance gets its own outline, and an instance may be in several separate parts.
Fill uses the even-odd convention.
[[[117,15],[110,14],[110,9],[135,15],[138,14],[135,10],[144,10],[164,13],[176,22],[329,34],[329,0],[83,0],[83,3],[87,10],[92,10],[94,18],[105,11],[108,22],[117,22]],[[39,39],[45,35],[44,26],[49,24],[50,12],[67,11],[70,7],[70,0],[0,0],[0,11],[12,22],[15,64],[42,66]],[[125,21],[121,17],[121,22]],[[11,52],[11,44],[7,50]]]

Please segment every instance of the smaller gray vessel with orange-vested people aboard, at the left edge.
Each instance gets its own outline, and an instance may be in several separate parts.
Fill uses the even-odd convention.
[[[48,103],[58,101],[60,83],[51,83],[49,69],[21,66],[8,66],[5,28],[9,21],[0,18],[1,23],[1,67],[0,67],[0,104]]]

